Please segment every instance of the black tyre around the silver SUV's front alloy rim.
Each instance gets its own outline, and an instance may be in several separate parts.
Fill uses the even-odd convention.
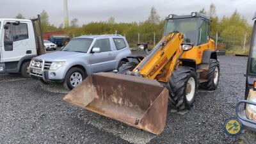
[[[66,76],[65,76],[65,81],[63,83],[63,86],[65,88],[67,88],[68,90],[72,90],[75,86],[73,86],[70,82],[70,77],[75,73],[78,72],[79,74],[81,74],[82,77],[82,81],[87,77],[86,72],[84,72],[83,70],[81,70],[81,68],[78,67],[72,67],[68,70]]]

